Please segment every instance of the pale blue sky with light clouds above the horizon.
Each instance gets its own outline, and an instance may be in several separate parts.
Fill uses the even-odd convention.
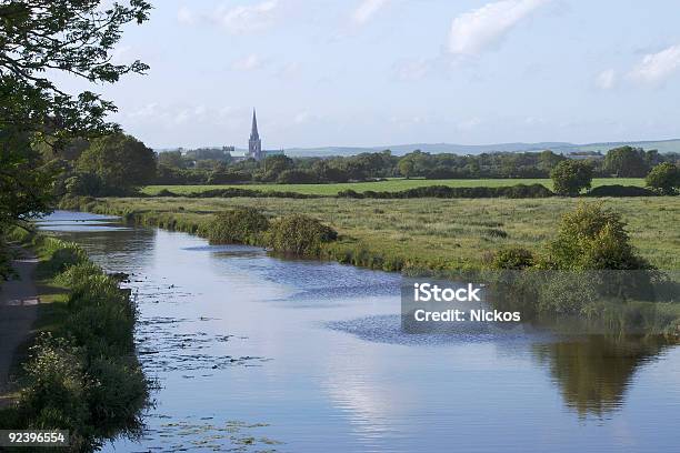
[[[94,87],[151,148],[680,138],[678,0],[151,2]]]

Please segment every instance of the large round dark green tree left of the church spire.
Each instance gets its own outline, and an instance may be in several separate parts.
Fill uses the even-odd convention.
[[[78,170],[97,174],[109,193],[126,193],[153,181],[156,153],[131,135],[114,133],[93,140]]]

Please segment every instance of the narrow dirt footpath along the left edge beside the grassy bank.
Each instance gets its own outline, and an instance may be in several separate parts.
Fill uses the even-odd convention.
[[[11,365],[14,352],[31,334],[38,314],[38,293],[33,272],[38,260],[23,251],[12,261],[18,280],[0,285],[0,407],[9,404],[6,393],[11,390]]]

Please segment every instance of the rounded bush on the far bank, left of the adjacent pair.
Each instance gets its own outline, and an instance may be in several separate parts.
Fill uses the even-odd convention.
[[[239,243],[258,244],[262,232],[269,228],[269,220],[253,208],[238,207],[220,212],[203,226],[202,234],[211,244]]]

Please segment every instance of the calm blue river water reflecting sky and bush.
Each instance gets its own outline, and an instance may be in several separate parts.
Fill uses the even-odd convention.
[[[156,380],[106,452],[678,451],[680,348],[400,331],[400,275],[56,212],[126,272]]]

